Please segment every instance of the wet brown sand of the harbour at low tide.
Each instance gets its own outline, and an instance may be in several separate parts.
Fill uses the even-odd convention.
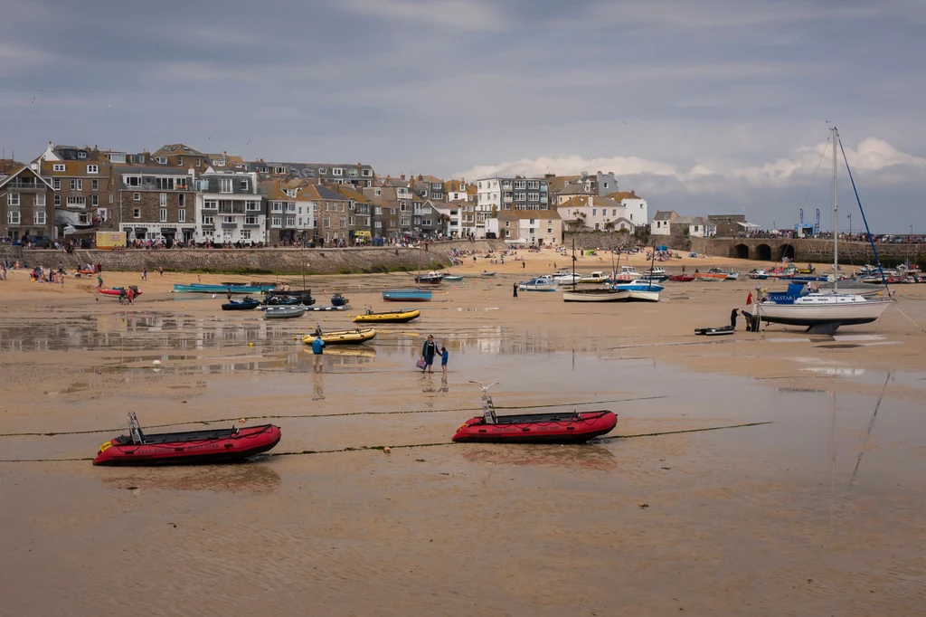
[[[703,340],[693,329],[727,322],[755,282],[667,283],[655,305],[514,299],[513,283],[569,263],[528,258],[468,261],[418,321],[332,349],[321,374],[294,337],[348,327],[347,314],[268,322],[168,293],[195,275],[104,272],[144,291],[120,307],[91,281],[11,273],[5,613],[96,615],[131,599],[154,615],[920,614],[926,286],[898,288],[881,321],[837,337],[771,326]],[[409,282],[309,286],[319,303],[344,293],[353,315]],[[427,334],[450,350],[445,379],[414,369]],[[581,447],[449,445],[478,412],[469,380],[500,382],[500,408],[612,409],[618,427]],[[287,456],[94,468],[127,410],[147,426],[274,422]],[[770,423],[722,428],[757,422]]]

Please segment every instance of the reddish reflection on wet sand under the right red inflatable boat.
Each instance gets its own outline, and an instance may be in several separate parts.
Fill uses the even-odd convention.
[[[612,470],[618,461],[607,447],[595,444],[569,446],[531,446],[522,444],[484,444],[461,447],[464,459],[495,465],[551,465],[573,469]]]

